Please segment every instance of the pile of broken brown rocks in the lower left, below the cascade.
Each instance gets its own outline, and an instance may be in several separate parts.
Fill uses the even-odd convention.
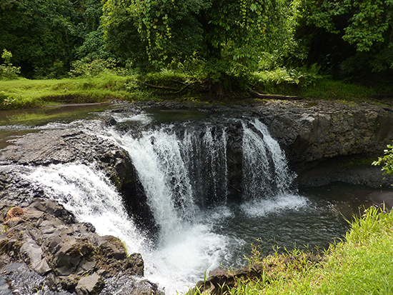
[[[9,206],[3,203],[0,209],[5,216]],[[23,210],[23,216],[2,227],[0,255],[9,256],[2,261],[23,260],[37,274],[51,278],[46,283],[51,289],[99,294],[105,278],[119,273],[143,276],[140,254],[127,256],[119,239],[99,236],[91,224],[69,222],[64,215],[70,213],[55,201],[34,198]]]

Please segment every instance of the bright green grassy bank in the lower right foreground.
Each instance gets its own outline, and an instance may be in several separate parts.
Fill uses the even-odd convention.
[[[226,294],[393,294],[392,257],[393,213],[372,207],[352,222],[345,241],[314,259],[299,251],[252,257],[262,276],[237,279]]]

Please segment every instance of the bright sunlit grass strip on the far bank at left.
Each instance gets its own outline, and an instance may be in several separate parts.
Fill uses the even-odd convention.
[[[96,76],[61,80],[18,79],[0,81],[0,109],[27,109],[53,104],[82,104],[111,99],[143,100],[136,76]]]

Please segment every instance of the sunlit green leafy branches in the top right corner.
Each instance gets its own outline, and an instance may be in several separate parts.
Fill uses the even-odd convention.
[[[303,3],[308,24],[341,34],[359,53],[368,52],[373,71],[393,69],[392,0],[304,0]]]

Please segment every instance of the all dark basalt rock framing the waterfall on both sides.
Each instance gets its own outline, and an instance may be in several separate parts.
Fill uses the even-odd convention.
[[[140,106],[180,109],[190,104],[149,103]],[[243,106],[197,106],[204,111],[228,112],[237,118],[256,117],[264,122],[285,150],[300,186],[319,186],[331,181],[380,186],[379,167],[362,159],[376,159],[393,139],[393,112],[372,104],[339,104],[329,101],[262,101]],[[217,124],[220,124],[220,119]],[[227,126],[229,199],[241,193],[242,126]],[[104,124],[116,124],[109,117]],[[360,161],[357,163],[359,157]],[[46,197],[43,188],[21,179],[29,166],[78,162],[94,163],[123,194],[136,224],[156,231],[143,188],[129,156],[111,141],[78,130],[51,130],[14,139],[0,151],[0,211],[5,221],[11,206],[24,215],[0,227],[0,291],[19,289],[31,294],[44,288],[48,294],[159,293],[143,279],[140,254],[126,255],[113,236],[98,236],[94,226],[79,223],[71,212]],[[390,196],[389,196],[390,198]],[[374,202],[379,197],[370,196]],[[217,274],[217,284],[222,284]],[[84,279],[82,279],[84,278]],[[231,278],[229,278],[230,280]],[[216,286],[213,279],[209,281]],[[228,281],[229,282],[229,281]],[[5,288],[7,286],[7,288]],[[209,289],[208,288],[208,289]],[[214,287],[216,288],[216,287]],[[119,291],[121,290],[121,291]],[[5,293],[6,294],[6,293]],[[118,293],[119,294],[119,293]]]

